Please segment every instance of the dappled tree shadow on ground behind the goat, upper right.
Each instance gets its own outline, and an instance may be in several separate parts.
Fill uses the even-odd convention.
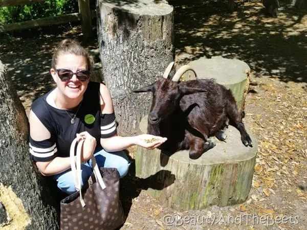
[[[256,77],[306,83],[307,11],[279,2],[278,18],[272,18],[261,1],[236,2],[233,13],[214,1],[170,1],[177,61],[221,55],[245,61]]]

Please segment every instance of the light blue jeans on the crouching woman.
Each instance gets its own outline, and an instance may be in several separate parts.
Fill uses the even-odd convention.
[[[130,161],[124,151],[106,152],[104,149],[94,152],[94,156],[99,167],[116,168],[119,176],[123,177],[127,174]],[[81,186],[87,183],[92,175],[92,159],[81,165]],[[57,182],[57,187],[67,194],[76,192],[75,183],[71,169],[53,176]]]

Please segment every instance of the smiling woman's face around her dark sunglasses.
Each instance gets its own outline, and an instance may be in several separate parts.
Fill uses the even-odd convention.
[[[50,73],[57,84],[59,91],[64,97],[77,99],[83,96],[90,80],[80,81],[76,74],[74,74],[70,80],[61,81],[56,70],[66,69],[76,73],[81,70],[87,70],[87,68],[86,57],[75,54],[61,54],[57,58],[55,70],[52,68]]]

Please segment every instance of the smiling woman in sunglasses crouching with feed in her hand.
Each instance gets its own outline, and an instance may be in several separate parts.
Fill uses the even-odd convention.
[[[99,167],[127,174],[129,159],[122,151],[133,145],[153,149],[165,139],[142,134],[118,136],[111,95],[104,84],[90,82],[91,58],[74,40],[64,39],[55,49],[51,76],[56,88],[36,99],[29,115],[30,153],[42,175],[50,176],[60,190],[76,191],[71,172],[70,146],[84,139],[81,154],[81,185],[91,176],[91,157]],[[146,142],[145,140],[155,140]]]

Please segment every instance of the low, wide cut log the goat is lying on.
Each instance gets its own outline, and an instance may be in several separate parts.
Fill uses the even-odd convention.
[[[175,210],[199,210],[209,205],[226,206],[246,200],[254,173],[257,140],[250,134],[253,147],[245,147],[237,129],[225,131],[227,143],[214,137],[216,146],[200,158],[189,158],[188,150],[167,155],[159,149],[137,148],[136,175],[147,178],[158,172],[164,178],[164,189],[148,193]],[[147,132],[147,117],[140,122],[140,132]],[[174,182],[170,184],[170,181]],[[160,181],[161,182],[161,181]]]

